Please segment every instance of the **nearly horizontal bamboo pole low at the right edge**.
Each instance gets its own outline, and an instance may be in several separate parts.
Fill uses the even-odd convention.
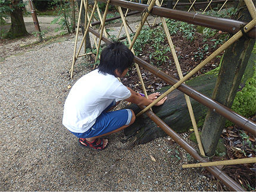
[[[182,168],[196,168],[196,167],[202,167],[202,166],[218,166],[218,165],[237,165],[237,164],[244,164],[244,163],[256,163],[256,158],[219,160],[219,161],[206,162],[206,163],[184,164],[182,165]]]

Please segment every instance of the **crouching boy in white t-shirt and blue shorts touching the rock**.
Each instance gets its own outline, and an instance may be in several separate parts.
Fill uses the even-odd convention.
[[[123,130],[135,121],[131,109],[110,111],[120,100],[136,105],[149,105],[160,93],[141,96],[124,86],[117,77],[124,77],[133,64],[133,53],[122,43],[115,42],[102,50],[96,70],[81,77],[65,100],[63,125],[76,137],[79,145],[102,150],[108,144],[100,137]],[[156,105],[162,105],[166,97]]]

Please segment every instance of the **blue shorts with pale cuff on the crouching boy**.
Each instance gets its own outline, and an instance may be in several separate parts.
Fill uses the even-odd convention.
[[[95,124],[93,124],[85,133],[70,132],[79,138],[90,138],[110,133],[123,125],[128,125],[132,120],[132,111],[130,109],[121,109],[118,111],[108,112],[108,109],[114,105],[115,102],[111,103],[111,105],[96,118]]]

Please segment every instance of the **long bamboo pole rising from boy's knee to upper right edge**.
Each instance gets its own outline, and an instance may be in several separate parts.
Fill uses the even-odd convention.
[[[251,30],[253,27],[255,27],[255,25],[256,25],[256,19],[254,19],[254,20],[250,21],[248,24],[246,24],[246,26],[243,27],[243,30],[245,31],[245,33],[247,33],[247,32],[249,32],[249,30]],[[221,45],[220,48],[218,48],[216,51],[211,53],[210,56],[208,56],[206,59],[204,59],[204,61],[202,61],[201,64],[196,66],[191,72],[186,74],[185,77],[180,79],[176,84],[174,84],[170,89],[168,89],[166,93],[162,94],[157,99],[155,99],[154,102],[152,102],[150,105],[146,106],[146,108],[143,109],[141,112],[139,112],[139,114],[137,114],[136,116],[138,117],[139,115],[141,115],[145,111],[147,111],[149,108],[154,106],[155,103],[159,102],[161,99],[163,99],[169,93],[171,93],[174,89],[179,87],[180,84],[184,83],[186,80],[191,78],[197,71],[199,71],[202,67],[204,67],[206,64],[208,64],[208,62],[210,62],[213,58],[215,58],[217,55],[219,55],[221,52],[223,52],[227,47],[232,45],[232,43],[236,42],[236,40],[238,40],[242,36],[243,36],[243,33],[241,32],[241,30],[239,30],[238,33],[234,34],[229,40],[227,40],[227,42],[225,42],[223,45]]]

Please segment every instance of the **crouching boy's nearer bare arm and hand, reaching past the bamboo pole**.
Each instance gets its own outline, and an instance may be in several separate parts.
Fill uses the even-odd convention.
[[[127,102],[135,103],[136,105],[145,105],[145,106],[148,106],[153,102],[153,100],[146,99],[146,97],[141,96],[139,93],[136,93],[134,90],[130,89],[129,87],[127,87],[127,89],[129,89],[130,92],[132,93],[132,95],[126,99]],[[164,97],[155,105],[156,106],[163,105],[166,99],[167,97]]]

